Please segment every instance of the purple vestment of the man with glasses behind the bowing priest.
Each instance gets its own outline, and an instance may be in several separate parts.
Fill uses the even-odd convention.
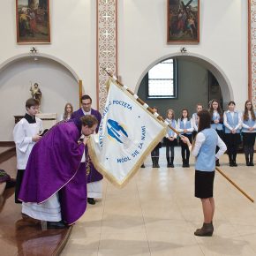
[[[99,111],[97,111],[95,109],[91,109],[91,115],[96,117],[99,122],[97,129],[96,129],[96,132],[98,132],[100,123],[102,121],[102,115]],[[84,116],[85,115],[84,115],[84,112],[82,109],[79,109],[72,113],[72,118],[80,118],[80,117],[84,117]],[[87,183],[92,183],[95,181],[102,180],[103,176],[100,172],[97,171],[97,169],[95,169],[93,162],[90,162],[90,169],[91,169],[91,171],[90,171],[89,175],[87,176]],[[86,172],[86,170],[85,170],[85,172]]]

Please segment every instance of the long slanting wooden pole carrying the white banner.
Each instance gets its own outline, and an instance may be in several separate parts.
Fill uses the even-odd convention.
[[[102,69],[103,69],[105,72],[107,72],[107,70],[106,70],[105,68],[102,68]],[[123,85],[122,83],[120,83],[117,78],[114,78],[112,74],[110,74],[109,72],[107,72],[107,74],[109,75],[109,77],[115,79],[115,81],[117,82],[117,84],[118,84],[119,86],[124,87],[124,85]],[[134,95],[133,92],[132,92],[129,88],[126,88],[126,90],[127,90],[130,94]],[[143,102],[141,99],[139,99],[139,97],[137,98],[137,102],[139,102],[141,105],[146,104],[146,103]],[[153,109],[151,109],[150,107],[147,107],[147,110],[148,110],[151,114],[154,114]],[[162,121],[163,123],[165,122],[165,120],[164,120],[161,116],[158,116],[157,119],[159,119],[159,120]],[[169,129],[171,129],[173,132],[177,133],[177,135],[180,137],[180,132],[177,132],[177,130],[174,129],[173,127],[171,127],[169,124],[168,124],[168,127],[169,127]],[[215,169],[216,169],[220,174],[222,174],[222,176],[225,177],[225,178],[230,182],[230,184],[234,185],[234,186],[237,188],[237,190],[238,190],[239,192],[242,192],[248,200],[252,201],[252,203],[254,202],[254,200],[252,200],[252,198],[251,198],[250,196],[248,196],[248,194],[246,194],[237,184],[235,184],[235,183],[230,179],[230,177],[228,177],[226,174],[224,174],[221,169],[219,169],[219,168],[217,168],[217,167],[215,167]]]

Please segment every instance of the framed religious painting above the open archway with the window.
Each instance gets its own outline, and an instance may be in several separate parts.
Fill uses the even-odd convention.
[[[200,0],[167,0],[167,43],[200,42]]]

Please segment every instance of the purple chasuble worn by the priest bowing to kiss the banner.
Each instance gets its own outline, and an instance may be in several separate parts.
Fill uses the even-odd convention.
[[[87,208],[85,163],[87,147],[78,144],[79,127],[74,122],[56,124],[37,142],[26,164],[19,200],[41,203],[59,192],[64,222],[76,222]]]

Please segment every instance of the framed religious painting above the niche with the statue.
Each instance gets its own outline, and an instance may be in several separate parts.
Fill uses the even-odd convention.
[[[49,0],[16,0],[17,42],[50,43]]]

